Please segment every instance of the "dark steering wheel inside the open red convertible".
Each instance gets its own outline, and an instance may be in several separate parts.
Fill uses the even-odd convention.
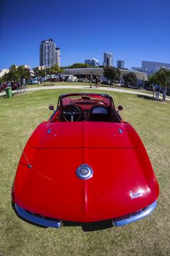
[[[66,105],[63,107],[63,118],[66,121],[79,121],[82,117],[82,110],[77,105]]]

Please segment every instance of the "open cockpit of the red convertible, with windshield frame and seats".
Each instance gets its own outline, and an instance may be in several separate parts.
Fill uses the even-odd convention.
[[[104,121],[120,123],[108,94],[62,94],[50,121]],[[69,96],[68,96],[69,95]]]

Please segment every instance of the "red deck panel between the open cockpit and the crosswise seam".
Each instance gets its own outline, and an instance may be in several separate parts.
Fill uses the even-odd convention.
[[[128,123],[44,122],[30,143],[34,148],[135,148],[139,136]]]

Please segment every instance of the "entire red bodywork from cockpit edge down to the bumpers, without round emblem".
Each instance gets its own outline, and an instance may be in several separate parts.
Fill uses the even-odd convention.
[[[82,164],[93,169],[92,178],[77,177]],[[12,197],[35,214],[93,222],[139,211],[158,194],[150,159],[130,124],[47,121],[26,144]]]

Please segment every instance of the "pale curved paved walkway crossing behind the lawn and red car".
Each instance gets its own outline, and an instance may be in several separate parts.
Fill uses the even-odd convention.
[[[137,94],[137,95],[143,95],[143,96],[147,96],[147,97],[152,97],[152,92],[145,92],[145,91],[141,91],[141,90],[136,90],[133,91],[133,89],[122,89],[122,88],[112,88],[112,87],[98,87],[96,88],[95,86],[93,86],[92,88],[90,88],[90,86],[37,86],[34,88],[29,88],[26,89],[26,91],[40,91],[40,90],[53,90],[53,89],[83,89],[83,90],[96,90],[96,92],[98,90],[100,91],[118,91],[118,92],[124,92],[126,94]],[[17,92],[17,91],[12,91],[12,92]],[[23,92],[23,90],[22,90]],[[0,93],[0,96],[5,95],[6,92],[3,91]],[[162,98],[162,94],[160,96],[160,99]],[[167,100],[170,100],[170,97],[166,97]]]

